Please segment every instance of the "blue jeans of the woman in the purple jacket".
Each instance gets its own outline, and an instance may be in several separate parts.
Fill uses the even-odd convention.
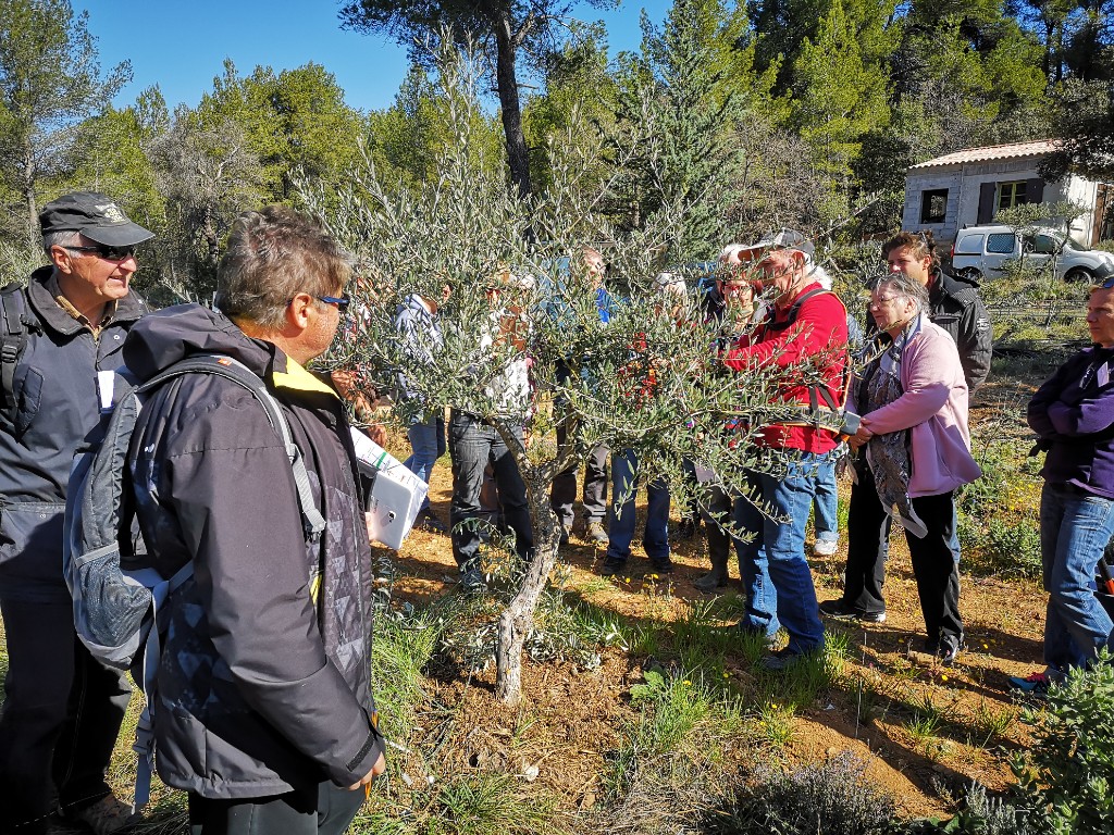
[[[1067,672],[1102,647],[1114,649],[1114,623],[1094,591],[1095,567],[1114,534],[1114,501],[1071,484],[1045,482],[1040,493],[1040,558],[1048,592],[1044,660]]]

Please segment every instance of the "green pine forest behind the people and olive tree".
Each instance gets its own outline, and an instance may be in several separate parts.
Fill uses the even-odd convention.
[[[303,13],[367,32],[369,49],[381,37],[410,48],[392,106],[348,106],[323,56],[293,69],[225,61],[212,90],[170,112],[157,79],[113,104],[131,78],[127,47],[102,66],[87,13],[68,0],[0,0],[0,268],[21,277],[39,258],[42,204],[95,188],[156,232],[141,271],[154,301],[204,298],[244,207],[299,205],[300,183],[329,193],[369,161],[383,181],[429,180],[452,141],[432,67],[444,22],[490,65],[475,119],[495,151],[483,158],[506,165],[519,191],[547,187],[555,132],[606,148],[652,128],[644,155],[605,153],[582,186],[622,184],[604,207],[619,230],[685,205],[671,263],[779,226],[825,243],[889,234],[906,168],[959,148],[1058,136],[1051,175],[1071,165],[1103,176],[1111,2],[678,0],[664,20],[643,13],[641,49],[618,55],[573,7],[321,2]]]

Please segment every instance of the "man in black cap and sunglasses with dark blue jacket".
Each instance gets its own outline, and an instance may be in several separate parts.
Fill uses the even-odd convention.
[[[129,293],[136,245],[153,234],[102,194],[39,215],[50,265],[0,291],[0,616],[8,644],[0,716],[0,833],[45,833],[55,817],[101,835],[131,807],[105,782],[130,697],[74,631],[61,573],[75,450],[110,404],[111,370],[147,311]]]

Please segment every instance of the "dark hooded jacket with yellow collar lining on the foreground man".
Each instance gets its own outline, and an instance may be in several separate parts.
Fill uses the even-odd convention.
[[[124,346],[140,380],[219,353],[266,382],[326,520],[307,542],[285,449],[246,390],[190,374],[144,404],[129,472],[149,559],[167,577],[194,562],[164,609],[158,774],[222,799],[356,783],[382,738],[371,719],[371,549],[343,405],[221,313],[183,305],[140,325]]]

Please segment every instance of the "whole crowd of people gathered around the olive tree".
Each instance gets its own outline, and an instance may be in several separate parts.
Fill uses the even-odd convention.
[[[194,833],[343,832],[385,750],[369,674],[373,569],[367,484],[342,396],[350,386],[342,374],[307,370],[349,307],[348,257],[312,218],[274,206],[247,212],[221,261],[214,307],[149,312],[129,285],[137,246],[152,234],[111,198],[67,195],[43,208],[40,225],[49,265],[0,292],[0,615],[9,657],[0,832],[46,833],[60,816],[102,835],[135,819],[105,776],[130,689],[78,640],[61,572],[68,480],[76,451],[96,441],[111,410],[114,369],[126,365],[141,382],[201,354],[263,381],[296,450],[250,392],[219,376],[175,377],[138,418],[121,477],[130,479],[147,558],[166,576],[193,566],[164,609],[158,773],[188,794]],[[964,647],[955,492],[980,475],[968,409],[989,371],[989,318],[976,286],[940,267],[928,234],[886,244],[888,271],[870,287],[867,322],[848,315],[813,255],[804,236],[788,230],[730,245],[704,299],[723,374],[793,369],[805,358],[815,374],[783,376],[780,416],[756,436],[785,462],[783,472],[746,472],[745,495],[701,474],[701,500],[682,509],[687,532],[703,522],[707,537],[711,570],[696,587],[725,586],[733,550],[746,600],[739,628],[770,646],[763,667],[785,670],[822,650],[824,618],[885,621],[896,519],[909,544],[925,648],[954,664]],[[617,302],[600,252],[584,247],[567,268],[588,281],[593,316],[607,325]],[[488,344],[519,351],[486,393],[520,416],[519,432],[531,396],[528,341],[500,295],[514,297],[525,281],[506,272],[488,291]],[[1114,276],[1100,281],[1087,307],[1094,346],[1065,363],[1028,410],[1047,453],[1040,529],[1049,598],[1046,669],[1013,680],[1023,690],[1093,664],[1114,629],[1094,589],[1114,534]],[[670,274],[655,286],[663,306],[691,293]],[[419,361],[443,343],[448,286],[433,296],[409,296],[395,316]],[[446,420],[405,376],[395,397],[413,415],[407,466],[428,481],[438,458],[451,453],[449,524],[428,504],[421,523],[450,537],[462,586],[483,584],[475,521],[486,512],[530,559],[525,485],[504,436],[461,410]],[[567,429],[557,426],[558,443]],[[291,474],[294,452],[309,485]],[[633,450],[604,445],[586,458],[582,533],[606,542],[599,570],[614,574],[631,557],[639,461]],[[690,464],[696,479],[698,462]],[[844,589],[818,601],[808,522],[814,517],[812,551],[833,554],[836,472],[844,465],[853,480]],[[571,468],[553,484],[563,541],[577,523],[576,482]],[[670,491],[653,478],[646,487],[643,544],[653,568],[667,572]],[[321,509],[323,536],[307,534],[300,489]],[[782,629],[788,644],[774,650]]]

